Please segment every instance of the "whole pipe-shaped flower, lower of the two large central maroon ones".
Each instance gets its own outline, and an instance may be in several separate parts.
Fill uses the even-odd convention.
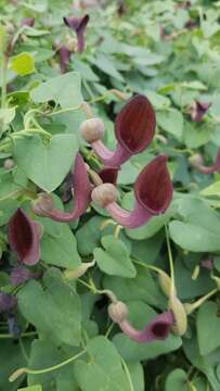
[[[126,228],[138,228],[155,215],[164,213],[172,199],[172,182],[166,166],[167,157],[155,157],[139,174],[134,184],[134,207],[129,212],[117,203],[117,189],[103,184],[92,191],[92,200]]]

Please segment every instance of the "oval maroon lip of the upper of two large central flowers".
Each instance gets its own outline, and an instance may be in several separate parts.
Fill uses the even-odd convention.
[[[154,109],[142,94],[131,98],[116,117],[118,142],[131,153],[142,152],[152,141],[156,127]]]

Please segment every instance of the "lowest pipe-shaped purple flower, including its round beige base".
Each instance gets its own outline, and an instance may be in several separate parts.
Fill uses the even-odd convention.
[[[118,324],[126,336],[135,342],[152,342],[165,340],[174,325],[172,311],[156,315],[142,330],[137,330],[127,319],[127,306],[122,302],[108,306],[109,317]]]

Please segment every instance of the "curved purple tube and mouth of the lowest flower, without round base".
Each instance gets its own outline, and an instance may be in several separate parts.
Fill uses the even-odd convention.
[[[137,330],[131,324],[125,319],[119,323],[120,329],[135,342],[152,342],[155,340],[165,340],[170,331],[171,326],[174,324],[172,311],[165,312],[155,316],[152,321],[142,330]]]

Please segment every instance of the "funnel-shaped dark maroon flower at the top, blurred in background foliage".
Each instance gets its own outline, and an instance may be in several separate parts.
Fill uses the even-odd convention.
[[[89,22],[89,15],[85,15],[82,17],[67,16],[63,20],[65,25],[76,33],[78,52],[81,53],[85,48],[85,30]]]

